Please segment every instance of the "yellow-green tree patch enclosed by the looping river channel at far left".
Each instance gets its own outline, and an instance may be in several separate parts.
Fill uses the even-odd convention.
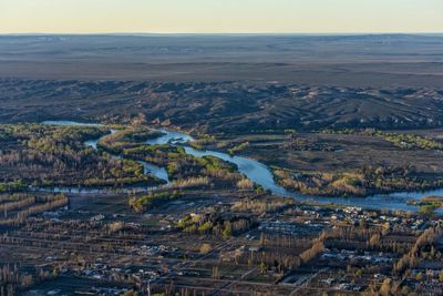
[[[0,125],[0,192],[28,186],[114,186],[152,183],[141,164],[115,160],[84,145],[105,134],[99,127]]]

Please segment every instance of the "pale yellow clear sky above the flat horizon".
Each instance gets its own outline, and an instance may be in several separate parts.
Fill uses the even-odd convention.
[[[443,0],[0,0],[0,33],[443,32]]]

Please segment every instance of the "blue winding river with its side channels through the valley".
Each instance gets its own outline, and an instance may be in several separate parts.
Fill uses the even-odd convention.
[[[93,123],[79,123],[72,121],[45,121],[43,124],[56,124],[56,125],[86,125],[86,126],[103,126],[101,124],[93,124]],[[358,206],[364,208],[377,208],[377,210],[401,210],[401,211],[418,211],[418,207],[414,205],[409,205],[406,202],[409,200],[420,200],[422,196],[426,195],[443,195],[443,188],[433,190],[433,191],[425,191],[425,192],[399,192],[392,194],[377,194],[373,196],[368,197],[324,197],[324,196],[312,196],[312,195],[303,195],[298,194],[295,192],[289,192],[278,185],[274,176],[265,164],[255,161],[248,157],[241,156],[231,156],[226,153],[217,152],[217,151],[202,151],[196,150],[187,145],[187,143],[194,141],[194,139],[185,133],[181,133],[177,131],[171,131],[161,129],[163,132],[162,136],[156,139],[152,139],[146,141],[146,144],[174,144],[181,145],[185,149],[187,154],[202,157],[212,155],[218,159],[222,159],[226,162],[230,162],[237,165],[238,171],[246,175],[249,180],[255,182],[256,184],[261,185],[265,190],[269,190],[272,194],[282,195],[282,196],[290,196],[299,201],[309,201],[309,202],[317,202],[317,203],[334,203],[348,206]],[[114,133],[114,130],[111,130],[111,133]],[[97,142],[101,139],[90,140],[85,142],[85,145],[91,146],[93,149],[97,147]],[[120,157],[120,156],[115,156]],[[166,181],[169,183],[167,178],[167,172],[164,167],[156,166],[154,164],[150,164],[146,162],[138,161],[143,167],[145,174],[153,174],[156,177]],[[146,191],[153,190],[152,188],[127,188],[125,191]],[[80,193],[101,193],[105,192],[106,190],[91,190],[91,188],[51,188],[51,191],[56,192],[80,192]],[[111,190],[112,191],[112,190]],[[437,211],[440,214],[443,214],[442,211]]]

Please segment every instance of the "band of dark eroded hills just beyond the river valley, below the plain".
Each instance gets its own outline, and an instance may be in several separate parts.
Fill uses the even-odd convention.
[[[416,129],[443,124],[443,89],[0,80],[0,122],[73,119],[206,131]]]

